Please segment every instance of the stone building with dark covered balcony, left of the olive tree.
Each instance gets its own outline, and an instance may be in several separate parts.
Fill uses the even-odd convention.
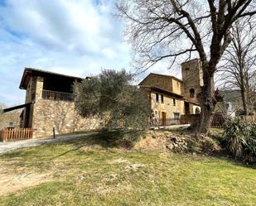
[[[80,80],[39,69],[25,69],[20,89],[27,90],[25,103],[30,106],[23,109],[21,127],[34,128],[34,137],[51,136],[53,127],[56,133],[98,128],[99,119],[81,117],[75,110],[71,89],[73,82]]]

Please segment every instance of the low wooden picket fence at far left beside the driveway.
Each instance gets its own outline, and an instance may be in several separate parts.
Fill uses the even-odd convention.
[[[32,128],[6,128],[2,130],[1,141],[27,140],[33,137]]]

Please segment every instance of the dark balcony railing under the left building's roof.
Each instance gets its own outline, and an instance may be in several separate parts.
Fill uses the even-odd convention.
[[[75,95],[73,93],[62,93],[51,90],[42,90],[42,98],[51,99],[56,101],[70,101],[73,102],[75,99]]]

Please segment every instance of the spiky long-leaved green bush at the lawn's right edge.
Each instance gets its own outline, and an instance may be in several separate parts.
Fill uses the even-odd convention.
[[[239,118],[225,124],[225,145],[235,159],[254,161],[256,157],[256,123]]]

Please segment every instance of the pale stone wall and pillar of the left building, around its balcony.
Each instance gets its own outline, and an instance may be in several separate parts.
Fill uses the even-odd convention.
[[[42,98],[43,78],[36,79],[36,99],[33,106],[32,127],[36,129],[34,137],[90,130],[100,125],[97,118],[84,118],[75,111],[75,103]]]

